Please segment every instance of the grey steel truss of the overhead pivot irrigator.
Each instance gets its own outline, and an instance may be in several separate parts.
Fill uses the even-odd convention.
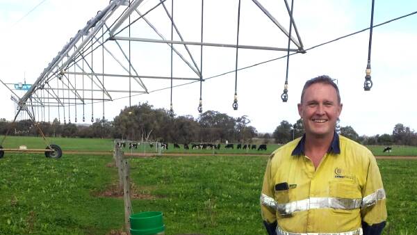
[[[272,16],[268,9],[265,8],[265,6],[263,6],[258,0],[252,0],[252,2],[254,3],[252,7],[255,10],[260,10],[261,13],[268,17],[269,20],[277,26],[279,31],[284,33],[283,36],[285,36],[288,40],[287,48],[245,45],[239,44],[238,40],[236,40],[236,44],[204,41],[204,0],[202,0],[199,5],[199,7],[201,7],[201,22],[199,22],[201,29],[198,29],[198,31],[201,30],[201,38],[199,42],[196,40],[186,40],[186,38],[181,34],[181,31],[179,31],[179,26],[177,26],[174,18],[175,1],[110,1],[106,8],[100,10],[95,17],[92,17],[83,29],[79,30],[76,35],[74,35],[74,37],[71,38],[67,44],[65,44],[63,49],[58,52],[56,57],[43,70],[38,79],[33,82],[33,85],[22,97],[19,97],[15,92],[13,92],[13,89],[9,88],[9,90],[14,94],[12,99],[17,104],[17,111],[13,122],[17,120],[19,113],[24,111],[36,124],[37,119],[39,120],[39,118],[36,118],[35,110],[44,110],[45,108],[48,109],[48,113],[49,108],[58,109],[58,118],[60,120],[62,116],[64,123],[67,121],[71,122],[71,112],[75,112],[74,121],[77,122],[77,115],[79,116],[77,111],[78,113],[82,112],[82,119],[83,122],[85,122],[85,119],[90,119],[90,117],[85,117],[84,107],[87,105],[91,108],[91,121],[94,122],[95,117],[93,113],[93,104],[96,103],[97,105],[97,103],[102,102],[104,119],[104,102],[113,101],[115,94],[129,93],[130,105],[131,95],[146,94],[161,88],[160,84],[158,87],[158,82],[155,83],[155,81],[161,81],[160,79],[168,79],[171,81],[171,96],[172,80],[184,82],[199,81],[199,111],[201,112],[201,83],[204,81],[202,73],[203,47],[228,47],[236,49],[236,69],[238,49],[287,51],[288,53],[289,51],[305,52],[300,34],[297,31],[297,26],[295,25],[291,14],[292,9],[286,0],[284,0],[284,3],[286,12],[288,13],[286,17],[288,17],[290,31],[287,31],[286,28],[282,26],[278,20]],[[167,8],[167,4],[169,4],[171,9]],[[291,6],[293,6],[292,3]],[[168,30],[168,32],[170,32],[170,36],[164,36],[163,33],[158,31],[157,26],[151,22],[151,17],[147,17],[147,15],[152,15],[152,13],[156,10],[159,10],[160,13],[165,12],[164,14],[167,16],[165,24],[170,27],[170,31]],[[240,7],[238,17],[240,17]],[[151,37],[133,37],[131,35],[132,33],[138,34],[134,29],[134,27],[138,24],[147,26],[147,29],[152,31],[152,33],[159,39]],[[291,28],[294,31],[293,35],[295,34],[295,37],[291,35]],[[237,32],[238,30],[239,24]],[[167,33],[165,33],[165,35],[166,34]],[[174,36],[179,38],[179,40],[174,40]],[[237,39],[238,38],[239,35],[237,33]],[[290,49],[290,41],[293,45],[295,45],[295,47],[297,47],[296,49]],[[140,46],[142,48],[146,48],[150,44],[166,44],[171,53],[171,60],[168,60],[171,63],[170,75],[161,76],[158,72],[155,72],[155,74],[141,73],[143,66],[140,70],[137,69],[138,64],[140,65],[140,62],[138,62],[140,60],[137,56],[138,53],[131,53],[133,48],[138,47],[133,45],[131,42],[141,42]],[[194,48],[191,49],[190,47]],[[195,47],[198,47],[199,53],[196,53]],[[184,67],[187,67],[189,70],[188,74],[190,74],[190,76],[173,76],[172,54],[175,54],[178,60],[183,62],[183,65],[185,65]],[[197,65],[197,59],[195,58],[196,55],[200,56],[199,65]],[[136,56],[136,58],[133,59],[131,58],[132,56]],[[143,62],[143,59],[146,58],[141,59]],[[129,89],[126,88],[125,82],[120,82],[120,79],[126,78],[129,79]],[[150,87],[152,87],[152,85],[156,85],[156,88],[151,89]],[[235,101],[237,102],[236,92]],[[45,112],[46,111],[43,111],[42,117],[46,116]],[[66,117],[68,117],[68,120]],[[42,131],[40,128],[38,129],[44,138]],[[3,140],[0,145],[3,143]],[[47,145],[50,146],[49,143],[47,143]]]

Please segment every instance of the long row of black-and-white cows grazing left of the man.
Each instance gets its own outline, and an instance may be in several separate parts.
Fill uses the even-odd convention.
[[[138,149],[138,145],[140,143],[134,143],[134,142],[117,142],[117,146],[119,147],[129,147],[129,149]],[[162,149],[168,149],[168,143],[160,142]],[[154,147],[153,143],[149,143],[149,147]],[[220,144],[212,144],[212,143],[190,143],[190,144],[183,144],[183,149],[220,149],[222,147]],[[234,149],[234,144],[226,144],[224,145],[224,149]],[[181,146],[178,143],[174,143],[174,149],[181,149]],[[243,144],[237,144],[236,149],[256,149],[256,145],[243,145]],[[258,150],[265,150],[266,151],[266,145],[259,145]]]

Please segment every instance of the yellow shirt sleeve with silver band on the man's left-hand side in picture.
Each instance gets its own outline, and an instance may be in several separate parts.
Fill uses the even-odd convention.
[[[277,204],[274,200],[274,187],[271,177],[271,161],[272,157],[270,157],[266,166],[261,192],[261,215],[267,230],[268,225],[272,225],[272,227],[274,225],[275,227],[277,226]]]

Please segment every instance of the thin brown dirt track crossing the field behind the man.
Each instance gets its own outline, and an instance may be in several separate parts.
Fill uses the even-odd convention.
[[[92,155],[113,155],[113,151],[64,151],[63,154],[92,154]],[[142,154],[142,153],[129,153],[125,152],[125,156],[134,157],[152,157],[157,154]],[[190,153],[168,153],[162,154],[162,156],[268,156],[269,154],[190,154]],[[417,156],[375,156],[377,159],[405,159],[405,160],[417,160]]]

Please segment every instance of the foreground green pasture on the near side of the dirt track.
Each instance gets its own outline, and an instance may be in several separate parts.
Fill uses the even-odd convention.
[[[134,212],[163,211],[166,234],[265,234],[259,213],[268,156],[129,159]],[[108,234],[122,229],[111,156],[7,154],[0,159],[0,234]],[[379,160],[384,234],[417,234],[417,161]]]

